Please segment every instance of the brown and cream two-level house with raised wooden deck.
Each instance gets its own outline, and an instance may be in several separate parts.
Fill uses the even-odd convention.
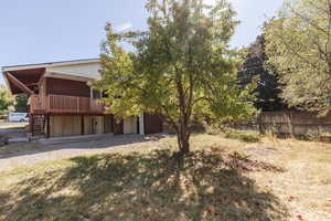
[[[94,134],[156,134],[162,122],[142,114],[115,120],[89,87],[100,77],[99,60],[77,60],[2,67],[12,94],[29,95],[32,136],[62,137]]]

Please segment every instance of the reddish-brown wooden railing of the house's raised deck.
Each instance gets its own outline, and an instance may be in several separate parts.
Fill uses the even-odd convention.
[[[64,95],[31,95],[32,114],[103,114],[104,105],[90,97]]]

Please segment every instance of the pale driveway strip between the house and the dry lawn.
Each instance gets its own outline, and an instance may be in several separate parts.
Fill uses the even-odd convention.
[[[66,144],[47,145],[38,150],[0,157],[0,171],[31,166],[41,161],[71,158],[86,154],[108,152],[114,150],[114,148],[138,148],[147,141],[146,138],[139,135],[125,135],[102,137],[89,141],[71,141]]]

